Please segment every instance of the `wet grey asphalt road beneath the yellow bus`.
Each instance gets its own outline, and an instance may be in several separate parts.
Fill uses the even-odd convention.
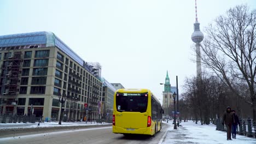
[[[144,136],[144,135],[132,135],[124,136],[122,134],[113,134],[112,127],[100,127],[100,128],[85,128],[77,130],[65,130],[65,131],[54,131],[40,134],[30,134],[12,137],[3,137],[0,139],[0,143],[159,143],[162,136],[165,134],[168,125],[162,125],[162,130],[159,131],[155,136]]]

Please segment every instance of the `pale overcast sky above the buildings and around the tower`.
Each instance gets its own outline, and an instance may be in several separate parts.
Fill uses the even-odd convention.
[[[237,4],[253,0],[197,0],[201,31]],[[149,88],[162,99],[166,70],[183,92],[185,77],[196,74],[194,0],[168,1],[3,1],[0,35],[50,31],[85,61],[99,62],[102,76],[125,88]]]

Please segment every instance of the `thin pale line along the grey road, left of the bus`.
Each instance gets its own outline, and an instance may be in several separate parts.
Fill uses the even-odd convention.
[[[71,133],[76,131],[88,131],[88,130],[96,130],[96,129],[109,129],[112,127],[102,127],[102,128],[90,128],[90,129],[74,129],[74,130],[66,130],[66,131],[54,131],[54,132],[48,132],[48,133],[40,133],[40,134],[32,134],[32,135],[22,135],[22,136],[15,136],[15,137],[4,137],[0,138],[0,141],[7,141],[7,140],[20,140],[25,139],[27,137],[36,137],[36,136],[46,136],[46,135],[53,135],[53,134],[65,134],[65,133]]]

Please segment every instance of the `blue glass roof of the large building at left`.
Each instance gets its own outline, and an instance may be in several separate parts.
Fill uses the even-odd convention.
[[[84,60],[77,55],[77,53],[63,43],[63,41],[59,39],[53,32],[32,32],[0,36],[0,47],[14,47],[13,49],[15,49],[15,46],[28,46],[27,48],[30,48],[29,46],[34,45],[37,45],[38,48],[56,46],[61,51],[66,53],[66,55],[74,59],[75,62],[79,63],[82,67],[90,72],[92,71],[90,65],[86,64]]]

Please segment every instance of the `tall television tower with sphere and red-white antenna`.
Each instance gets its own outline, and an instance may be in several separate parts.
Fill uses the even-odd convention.
[[[195,23],[194,23],[194,32],[191,35],[191,39],[196,43],[196,77],[197,79],[202,79],[202,70],[201,70],[201,52],[200,52],[200,43],[203,40],[203,33],[200,31],[200,23],[197,20],[197,7],[195,0]]]

